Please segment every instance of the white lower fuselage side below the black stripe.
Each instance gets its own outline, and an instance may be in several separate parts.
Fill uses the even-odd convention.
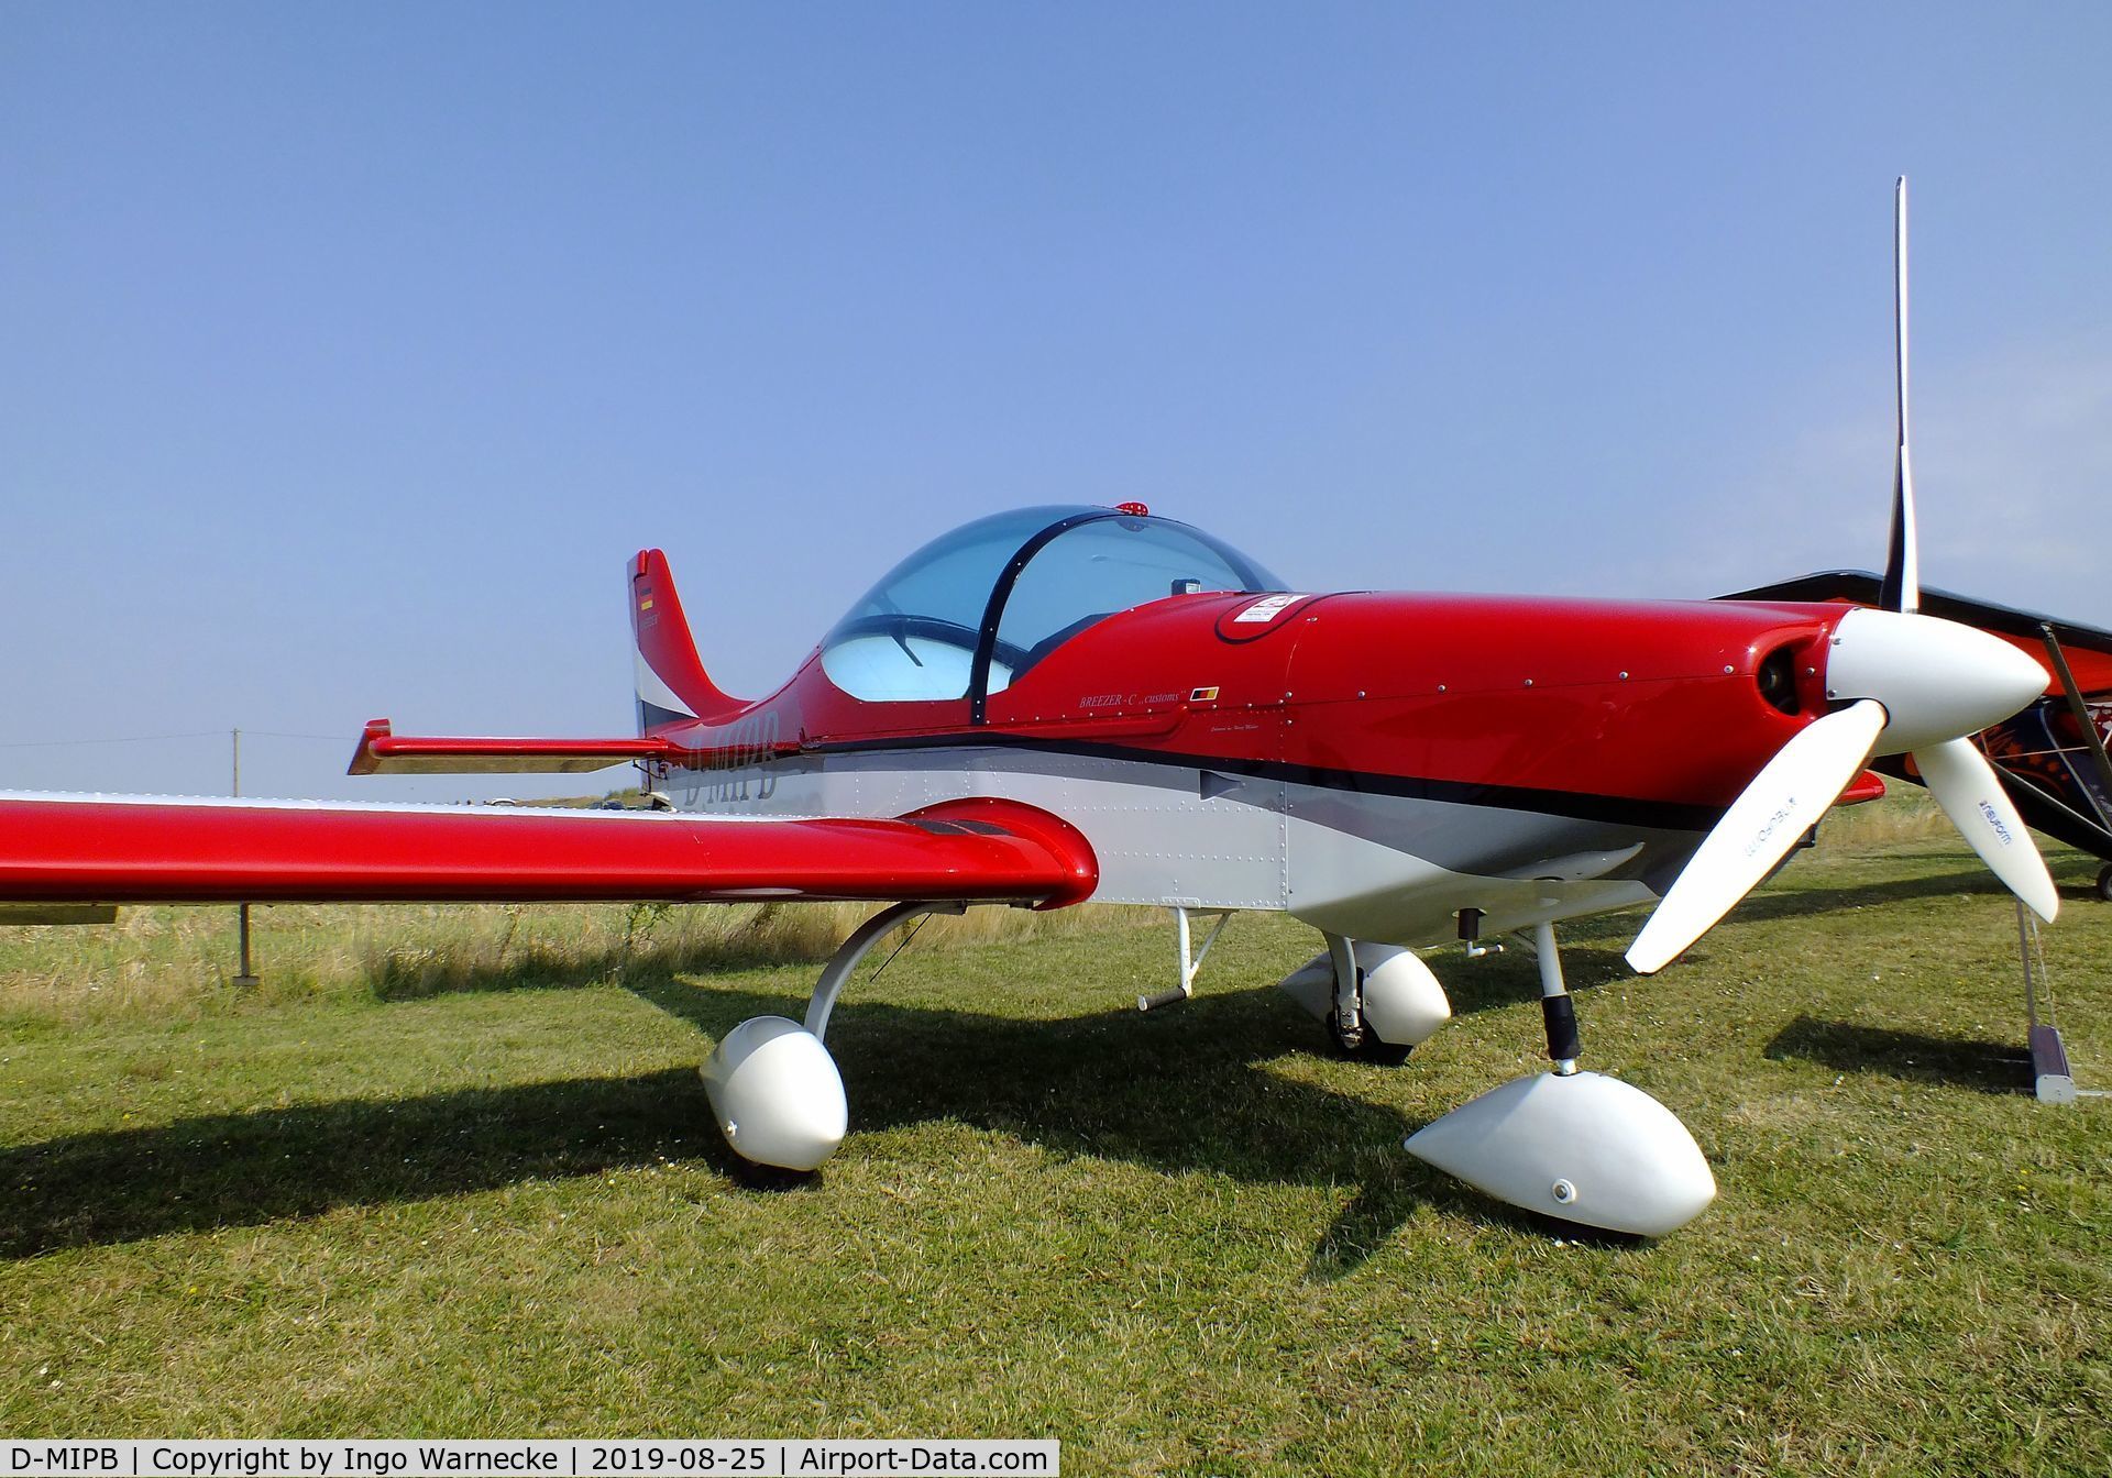
[[[1451,940],[1464,908],[1500,933],[1647,904],[1658,895],[1641,868],[1677,866],[1700,840],[1024,745],[832,752],[674,771],[657,788],[682,811],[748,817],[898,817],[961,798],[1018,800],[1086,836],[1100,866],[1096,902],[1280,910],[1385,944]]]

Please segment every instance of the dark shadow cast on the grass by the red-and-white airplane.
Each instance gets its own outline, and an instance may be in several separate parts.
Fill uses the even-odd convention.
[[[712,1037],[750,1016],[805,1011],[805,997],[684,984],[661,965],[631,990]],[[1516,961],[1459,990],[1455,1005],[1514,1003],[1527,994],[1529,971],[1531,961]],[[1601,971],[1611,975],[1611,965],[1580,973],[1597,980]],[[503,975],[494,971],[488,988],[503,988]],[[1198,994],[1143,1020],[1134,1009],[1018,1020],[860,1003],[853,984],[830,1024],[830,1047],[853,1134],[955,1119],[1060,1155],[1358,1187],[1312,1250],[1307,1275],[1316,1280],[1354,1271],[1417,1206],[1548,1225],[1404,1155],[1400,1140],[1419,1125],[1398,1111],[1267,1073],[1269,1058],[1320,1049],[1320,1028],[1274,990]],[[743,1187],[769,1185],[724,1149],[691,1068],[201,1115],[0,1149],[0,1258],[663,1159],[710,1163]]]

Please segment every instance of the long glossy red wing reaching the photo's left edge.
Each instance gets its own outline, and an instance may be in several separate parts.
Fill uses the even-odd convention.
[[[752,902],[1092,893],[1086,840],[1033,807],[705,819],[270,800],[0,796],[0,902]]]

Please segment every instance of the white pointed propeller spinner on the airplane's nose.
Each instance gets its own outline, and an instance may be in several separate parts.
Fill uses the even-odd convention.
[[[1878,754],[1979,733],[2047,690],[2047,669],[2009,642],[1956,621],[1850,610],[1827,655],[1827,697],[1875,699]]]

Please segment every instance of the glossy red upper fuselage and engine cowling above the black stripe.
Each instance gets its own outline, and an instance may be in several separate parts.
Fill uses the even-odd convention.
[[[727,722],[705,764],[771,750],[1035,745],[1704,830],[1827,709],[1837,606],[1491,595],[1174,595],[1071,638],[986,701],[862,703],[819,655]],[[1282,600],[1282,598],[1267,598]],[[1764,678],[1770,688],[1764,690]]]

